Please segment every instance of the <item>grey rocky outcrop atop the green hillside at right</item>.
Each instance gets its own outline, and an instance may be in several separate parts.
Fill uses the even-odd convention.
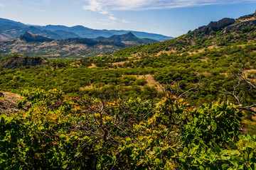
[[[230,26],[231,24],[235,23],[235,19],[233,18],[223,18],[220,21],[213,22],[211,21],[208,26],[199,27],[198,30],[201,33],[210,33],[211,30],[218,30],[225,26]]]

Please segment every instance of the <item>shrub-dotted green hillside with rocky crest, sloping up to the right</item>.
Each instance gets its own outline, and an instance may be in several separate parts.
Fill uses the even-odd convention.
[[[136,52],[144,54],[170,54],[176,52],[198,52],[206,48],[219,48],[229,45],[240,45],[256,38],[256,13],[242,16],[237,19],[223,18],[220,21],[210,22],[196,30],[189,30],[187,34],[172,40],[158,42],[151,45],[129,47],[114,55],[132,55]]]

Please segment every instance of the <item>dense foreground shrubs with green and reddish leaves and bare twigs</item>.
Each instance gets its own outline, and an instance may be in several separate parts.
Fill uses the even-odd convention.
[[[255,169],[256,137],[225,102],[64,97],[23,91],[31,108],[1,115],[1,169]]]

